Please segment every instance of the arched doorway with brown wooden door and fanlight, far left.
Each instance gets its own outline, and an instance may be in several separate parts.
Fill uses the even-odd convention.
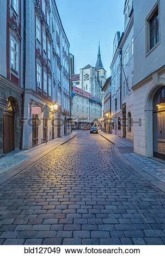
[[[8,108],[3,111],[3,151],[9,153],[15,148],[15,107],[8,99]]]

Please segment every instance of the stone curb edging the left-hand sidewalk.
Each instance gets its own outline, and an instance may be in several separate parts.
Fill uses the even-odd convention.
[[[2,185],[4,182],[8,181],[9,179],[13,178],[14,176],[16,176],[17,174],[21,173],[22,170],[25,170],[26,168],[33,166],[33,164],[37,161],[39,161],[40,159],[46,157],[47,155],[51,154],[54,150],[56,150],[57,148],[59,148],[61,145],[64,145],[65,143],[69,142],[71,139],[75,138],[78,135],[78,133],[76,133],[74,136],[72,136],[69,139],[66,139],[66,141],[60,143],[59,145],[55,146],[53,149],[51,149],[50,151],[48,151],[47,153],[45,153],[44,155],[41,155],[38,159],[34,160],[32,162],[32,160],[25,160],[22,163],[19,164],[19,166],[15,167],[13,169],[13,171],[11,171],[11,173],[8,174],[4,174],[4,176],[1,177],[1,181],[0,181],[0,185]],[[26,163],[27,162],[27,163]],[[12,168],[11,168],[12,169]],[[7,170],[7,172],[10,172],[10,169]]]

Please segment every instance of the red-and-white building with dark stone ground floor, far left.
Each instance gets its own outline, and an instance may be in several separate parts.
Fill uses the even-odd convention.
[[[0,156],[22,147],[23,6],[1,1],[0,8]]]

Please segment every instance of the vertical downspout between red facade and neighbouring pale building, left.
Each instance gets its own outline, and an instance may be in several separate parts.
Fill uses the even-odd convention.
[[[22,121],[21,121],[21,149],[23,148],[23,124],[25,106],[25,74],[26,74],[26,0],[23,1],[23,96],[22,96]]]

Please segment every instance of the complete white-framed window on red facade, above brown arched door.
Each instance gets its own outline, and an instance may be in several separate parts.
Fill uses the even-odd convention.
[[[18,56],[19,56],[19,43],[11,36],[11,56],[10,56],[10,65],[15,71],[18,71]]]

